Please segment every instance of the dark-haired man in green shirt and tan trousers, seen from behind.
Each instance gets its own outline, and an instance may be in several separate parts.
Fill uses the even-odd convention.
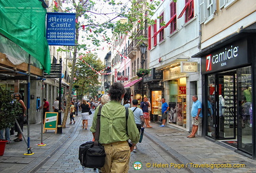
[[[121,100],[125,94],[122,83],[115,82],[110,86],[108,92],[110,102],[101,109],[100,138],[99,142],[105,148],[105,164],[101,172],[128,172],[130,152],[133,151],[139,141],[139,131],[137,130],[132,110],[126,123],[126,109],[121,105]],[[92,121],[91,132],[96,132],[98,109],[95,110]],[[126,128],[127,125],[127,128]],[[128,140],[132,142],[129,147]]]

